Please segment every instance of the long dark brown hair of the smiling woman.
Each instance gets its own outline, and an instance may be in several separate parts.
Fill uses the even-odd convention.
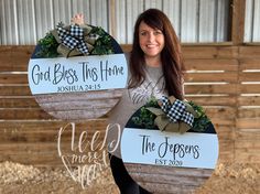
[[[161,53],[162,71],[165,79],[165,89],[170,96],[183,99],[183,62],[181,44],[169,18],[158,9],[149,9],[137,19],[133,32],[132,51],[130,55],[131,78],[129,88],[140,86],[145,79],[144,53],[139,44],[139,25],[144,22],[153,29],[161,30],[165,45]]]

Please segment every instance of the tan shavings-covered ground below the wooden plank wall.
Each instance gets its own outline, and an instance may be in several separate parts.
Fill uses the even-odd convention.
[[[1,194],[118,194],[109,168],[83,190],[65,168],[35,168],[0,163]],[[258,194],[260,164],[219,163],[212,177],[196,194]]]

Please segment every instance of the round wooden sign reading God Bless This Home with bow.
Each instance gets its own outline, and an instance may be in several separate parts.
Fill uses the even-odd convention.
[[[28,67],[39,105],[64,120],[106,115],[120,99],[128,67],[119,44],[96,26],[58,25],[39,41]]]

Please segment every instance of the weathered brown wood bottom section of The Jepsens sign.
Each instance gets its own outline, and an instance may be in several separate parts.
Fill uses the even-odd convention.
[[[151,193],[192,193],[213,173],[210,169],[124,163],[129,174]]]

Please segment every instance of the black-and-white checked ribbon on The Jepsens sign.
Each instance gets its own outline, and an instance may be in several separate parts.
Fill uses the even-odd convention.
[[[167,116],[169,120],[172,122],[183,121],[189,126],[193,126],[194,116],[186,111],[185,104],[176,99],[172,105],[167,97],[163,96],[161,99],[162,106],[161,109]]]

